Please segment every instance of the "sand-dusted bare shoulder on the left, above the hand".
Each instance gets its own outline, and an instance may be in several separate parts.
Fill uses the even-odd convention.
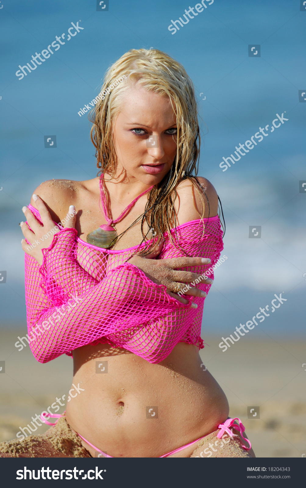
[[[78,200],[79,192],[83,187],[83,182],[72,180],[47,180],[34,190],[33,194],[38,195],[46,204],[51,217],[62,218],[66,215],[70,205],[75,205]],[[31,205],[36,207],[31,197]]]

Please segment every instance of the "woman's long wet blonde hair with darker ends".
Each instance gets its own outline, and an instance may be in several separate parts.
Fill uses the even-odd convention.
[[[100,94],[96,97],[96,106],[89,116],[93,122],[91,139],[96,147],[97,167],[101,173],[107,172],[111,176],[115,174],[117,157],[113,121],[120,111],[121,96],[135,83],[153,93],[168,95],[176,114],[177,151],[171,170],[153,187],[144,214],[135,221],[142,218],[142,242],[146,237],[143,232],[146,220],[149,228],[157,232],[159,244],[165,232],[168,232],[172,240],[170,229],[176,227],[173,203],[177,197],[177,184],[183,179],[190,179],[198,188],[199,182],[195,183],[194,178],[191,178],[193,172],[197,175],[200,154],[197,104],[192,81],[179,62],[157,49],[131,49],[125,53],[107,70]],[[203,190],[200,195],[203,218]],[[175,245],[173,240],[172,243]],[[146,246],[140,254],[148,254],[152,248],[153,244]]]

